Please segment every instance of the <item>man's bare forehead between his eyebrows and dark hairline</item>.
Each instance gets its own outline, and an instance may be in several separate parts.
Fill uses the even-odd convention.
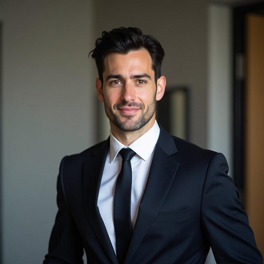
[[[150,76],[154,74],[151,68],[152,59],[146,49],[130,51],[128,54],[111,52],[104,59],[105,70],[104,78],[109,74],[122,74],[130,76],[132,73],[148,73]]]

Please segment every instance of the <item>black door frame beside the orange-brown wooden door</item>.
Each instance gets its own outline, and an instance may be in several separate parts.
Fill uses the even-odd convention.
[[[264,3],[233,8],[233,166],[234,182],[244,204],[245,18],[260,13]]]

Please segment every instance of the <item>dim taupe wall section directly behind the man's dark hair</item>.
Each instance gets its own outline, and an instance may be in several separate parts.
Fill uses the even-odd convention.
[[[159,40],[166,54],[162,64],[166,89],[181,85],[190,88],[190,141],[204,148],[207,145],[207,3],[206,0],[96,1],[95,25],[96,37],[101,37],[104,30],[131,26]],[[101,112],[101,120],[109,123]],[[101,139],[109,135],[110,126],[103,125],[103,129]]]

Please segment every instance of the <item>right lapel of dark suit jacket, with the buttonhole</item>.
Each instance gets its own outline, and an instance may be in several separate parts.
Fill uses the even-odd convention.
[[[170,157],[177,152],[172,136],[159,124],[160,134],[124,264],[128,264],[161,207],[179,163]]]

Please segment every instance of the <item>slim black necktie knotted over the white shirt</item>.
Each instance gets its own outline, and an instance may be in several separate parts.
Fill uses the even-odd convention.
[[[115,187],[114,225],[116,256],[119,264],[122,264],[132,236],[130,216],[132,169],[130,161],[136,153],[130,148],[122,148],[119,154],[122,157],[122,166]]]

